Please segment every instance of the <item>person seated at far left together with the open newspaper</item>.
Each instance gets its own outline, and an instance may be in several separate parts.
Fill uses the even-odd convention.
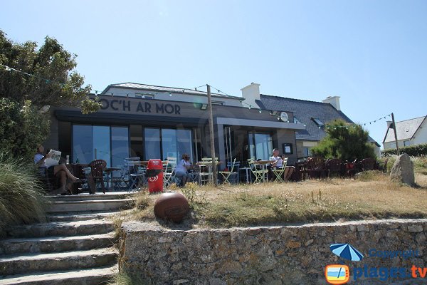
[[[39,145],[37,153],[34,155],[34,164],[40,168],[46,168],[49,175],[58,177],[60,180],[60,187],[57,190],[50,192],[50,194],[70,194],[66,189],[67,179],[71,182],[79,182],[80,179],[75,177],[65,165],[60,165],[60,153],[58,150],[50,150],[46,155],[43,155],[44,147]]]

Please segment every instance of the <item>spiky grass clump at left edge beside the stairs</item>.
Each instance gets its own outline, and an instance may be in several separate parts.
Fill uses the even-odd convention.
[[[0,154],[0,236],[9,225],[43,221],[43,201],[33,165]]]

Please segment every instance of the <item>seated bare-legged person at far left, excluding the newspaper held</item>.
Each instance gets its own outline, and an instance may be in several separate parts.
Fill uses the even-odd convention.
[[[66,189],[67,178],[72,182],[80,181],[77,177],[71,174],[65,165],[52,165],[51,167],[46,167],[44,164],[46,158],[49,157],[49,154],[43,155],[44,147],[39,145],[37,147],[37,153],[34,155],[34,164],[40,168],[47,168],[49,176],[55,176],[60,179],[60,187],[57,190],[52,191],[50,194],[69,194],[69,191]]]

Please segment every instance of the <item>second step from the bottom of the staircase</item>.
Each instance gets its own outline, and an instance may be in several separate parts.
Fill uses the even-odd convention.
[[[89,269],[117,263],[117,250],[91,249],[51,254],[22,254],[0,258],[0,276],[41,271]]]

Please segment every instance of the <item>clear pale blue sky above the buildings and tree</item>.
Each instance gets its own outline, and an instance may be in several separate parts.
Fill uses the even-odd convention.
[[[0,28],[19,43],[56,38],[93,90],[207,83],[241,95],[254,82],[268,95],[340,96],[369,123],[427,115],[426,15],[424,0],[3,0]],[[380,143],[385,121],[365,126]]]

